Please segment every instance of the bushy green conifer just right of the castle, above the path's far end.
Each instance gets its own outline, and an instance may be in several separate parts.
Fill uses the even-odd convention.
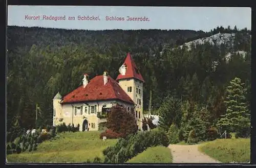
[[[159,126],[165,131],[168,131],[172,124],[176,124],[180,127],[182,117],[180,100],[168,96],[165,98],[158,111],[160,114]]]

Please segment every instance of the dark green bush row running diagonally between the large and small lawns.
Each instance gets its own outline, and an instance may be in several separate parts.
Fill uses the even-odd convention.
[[[115,146],[103,150],[104,163],[124,163],[148,147],[168,146],[168,138],[164,131],[151,130],[137,132],[125,138],[120,138]]]

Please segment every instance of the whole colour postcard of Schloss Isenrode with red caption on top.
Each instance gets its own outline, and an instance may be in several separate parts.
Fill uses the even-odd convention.
[[[6,163],[250,163],[251,9],[8,6]]]

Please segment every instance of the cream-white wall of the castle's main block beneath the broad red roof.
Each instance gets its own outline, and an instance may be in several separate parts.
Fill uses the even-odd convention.
[[[98,130],[98,124],[106,122],[106,118],[99,118],[97,114],[102,115],[102,108],[111,108],[115,104],[120,104],[131,110],[134,105],[125,103],[119,100],[113,101],[99,101],[73,104],[60,104],[60,100],[53,100],[53,109],[55,116],[53,116],[53,126],[65,123],[66,125],[73,125],[79,130],[83,131],[83,123],[86,120],[89,130]]]

